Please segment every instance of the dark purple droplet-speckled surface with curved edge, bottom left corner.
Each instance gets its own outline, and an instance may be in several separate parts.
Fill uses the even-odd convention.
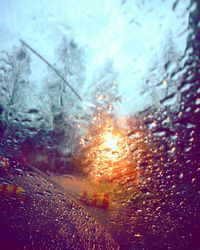
[[[13,162],[0,182],[25,190],[0,197],[1,249],[119,249],[105,228],[42,174]]]

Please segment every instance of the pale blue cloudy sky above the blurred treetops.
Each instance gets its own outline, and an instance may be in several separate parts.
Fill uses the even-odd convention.
[[[23,39],[50,62],[63,35],[85,48],[85,93],[96,71],[112,61],[122,96],[121,112],[137,112],[149,105],[140,92],[152,63],[160,55],[171,32],[179,53],[184,54],[190,1],[167,0],[1,0],[0,48],[10,49]],[[38,90],[46,65],[35,58],[32,80]],[[145,104],[146,103],[146,104]]]

